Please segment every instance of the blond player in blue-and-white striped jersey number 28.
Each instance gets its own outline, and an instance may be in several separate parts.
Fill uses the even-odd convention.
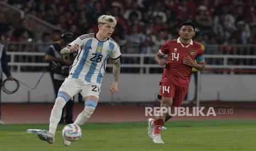
[[[65,79],[58,91],[58,96],[51,112],[49,131],[38,133],[41,140],[48,143],[55,142],[55,131],[61,119],[62,108],[70,98],[79,92],[83,95],[85,107],[74,121],[74,124],[82,125],[90,118],[97,106],[101,81],[108,57],[113,60],[114,74],[110,92],[114,94],[118,91],[121,52],[119,45],[110,38],[115,30],[117,21],[111,15],[102,15],[98,19],[98,24],[99,31],[97,33],[84,34],[61,50],[61,54],[78,51],[78,55],[70,68],[68,78]],[[66,146],[70,145],[67,140],[64,140],[63,143]]]

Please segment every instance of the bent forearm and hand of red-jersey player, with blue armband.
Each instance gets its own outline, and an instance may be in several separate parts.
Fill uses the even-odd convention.
[[[197,62],[195,62],[191,57],[187,56],[184,57],[182,60],[183,64],[188,65],[190,67],[194,67],[200,71],[203,71],[205,68],[205,61],[204,61],[204,56],[198,56],[197,57]]]

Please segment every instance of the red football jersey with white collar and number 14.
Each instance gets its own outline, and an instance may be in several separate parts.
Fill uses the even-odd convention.
[[[178,39],[167,40],[162,45],[160,51],[167,54],[167,64],[162,74],[161,82],[171,82],[177,86],[188,88],[192,67],[184,65],[184,57],[191,57],[195,60],[198,56],[203,55],[203,49],[199,43],[191,40],[190,44],[182,44]]]

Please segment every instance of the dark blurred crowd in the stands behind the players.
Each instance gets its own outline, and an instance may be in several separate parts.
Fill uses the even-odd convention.
[[[74,33],[97,32],[97,18],[113,15],[117,26],[112,37],[122,53],[156,53],[167,39],[178,37],[179,24],[193,21],[197,40],[204,44],[255,44],[256,1],[253,0],[6,0],[25,14]],[[19,28],[3,25],[1,40],[30,42],[34,32],[26,19]],[[52,43],[52,33],[43,33],[39,42]],[[10,51],[17,48],[10,47]],[[46,51],[42,45],[39,51]],[[20,48],[19,50],[22,50]]]

